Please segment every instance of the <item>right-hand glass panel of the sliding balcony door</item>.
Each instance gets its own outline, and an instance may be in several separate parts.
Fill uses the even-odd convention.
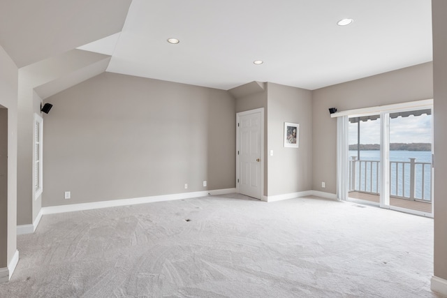
[[[431,214],[432,110],[390,113],[389,148],[390,207]]]

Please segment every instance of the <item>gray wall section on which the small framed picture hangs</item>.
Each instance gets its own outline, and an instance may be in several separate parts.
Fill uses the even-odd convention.
[[[312,92],[267,85],[268,195],[312,190]],[[284,122],[300,124],[298,149],[284,147]]]

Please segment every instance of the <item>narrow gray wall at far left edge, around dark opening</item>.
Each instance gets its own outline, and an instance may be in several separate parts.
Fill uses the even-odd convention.
[[[17,86],[18,70],[0,45],[0,105],[8,108],[8,198],[0,198],[0,268],[13,259],[17,223]],[[7,200],[6,204],[4,200]],[[6,206],[6,208],[4,208]],[[5,225],[6,223],[6,225]]]

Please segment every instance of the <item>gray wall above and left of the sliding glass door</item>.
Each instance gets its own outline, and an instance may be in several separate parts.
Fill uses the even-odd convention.
[[[337,120],[329,107],[339,111],[433,98],[433,64],[374,75],[313,91],[313,189],[337,192]],[[325,188],[321,188],[321,182]]]

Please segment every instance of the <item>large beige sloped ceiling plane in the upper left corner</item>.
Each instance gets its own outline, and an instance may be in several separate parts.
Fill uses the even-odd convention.
[[[122,30],[131,0],[1,0],[0,44],[18,68]]]

